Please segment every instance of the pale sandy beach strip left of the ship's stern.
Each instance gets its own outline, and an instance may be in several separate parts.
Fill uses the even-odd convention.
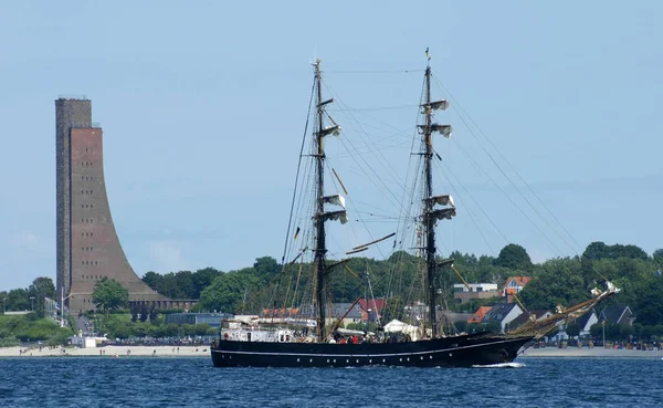
[[[23,351],[23,353],[21,353]],[[91,348],[39,348],[27,347],[0,347],[0,358],[2,357],[210,357],[209,346],[105,346]]]

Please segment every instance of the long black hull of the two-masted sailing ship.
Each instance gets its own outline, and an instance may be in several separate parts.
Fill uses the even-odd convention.
[[[407,343],[262,343],[218,341],[215,367],[472,367],[511,363],[532,336],[462,335]]]

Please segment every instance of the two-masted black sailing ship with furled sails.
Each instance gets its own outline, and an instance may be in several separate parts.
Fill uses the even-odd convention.
[[[427,51],[428,55],[428,51]],[[419,215],[415,221],[415,244],[413,251],[422,265],[423,287],[420,302],[421,314],[417,316],[419,324],[400,324],[393,328],[386,325],[376,332],[346,329],[340,327],[343,320],[329,318],[329,284],[330,275],[339,270],[348,270],[348,259],[328,260],[327,233],[329,221],[346,223],[348,213],[345,197],[340,193],[327,193],[325,170],[327,156],[325,140],[339,136],[341,127],[328,114],[333,98],[323,97],[323,73],[320,61],[313,63],[314,86],[312,103],[309,104],[309,118],[312,132],[306,132],[305,140],[309,139],[311,150],[304,154],[303,142],[299,154],[301,166],[297,170],[295,190],[304,190],[305,181],[309,180],[308,189],[313,199],[308,202],[293,196],[291,223],[286,241],[303,242],[299,249],[293,252],[292,260],[283,262],[286,268],[296,269],[297,262],[306,254],[311,255],[309,263],[299,263],[296,283],[290,281],[286,294],[274,295],[270,299],[270,308],[264,310],[262,316],[238,316],[223,322],[221,335],[211,347],[211,356],[217,367],[356,367],[370,365],[388,366],[417,366],[417,367],[469,367],[475,365],[492,365],[513,362],[518,351],[535,337],[535,333],[523,334],[495,334],[495,333],[446,333],[441,327],[438,316],[439,287],[436,279],[440,271],[453,263],[452,259],[442,259],[438,255],[435,245],[435,226],[445,219],[455,216],[456,209],[450,195],[435,195],[433,191],[433,171],[431,161],[440,157],[433,149],[433,135],[440,134],[450,137],[452,127],[440,125],[434,121],[433,112],[444,111],[448,101],[435,101],[431,96],[431,66],[428,59],[424,72],[423,95],[420,103],[420,121],[417,129],[420,137],[419,151],[413,153],[422,163],[419,178],[420,195]],[[308,123],[308,122],[307,122]],[[302,165],[303,158],[311,159],[308,166]],[[301,168],[312,170],[311,176],[302,176]],[[339,190],[347,195],[346,187],[334,168],[330,168],[332,181]],[[330,207],[336,207],[330,209]],[[309,233],[303,232],[305,228],[294,223],[295,208],[306,208],[308,211]],[[339,209],[340,208],[340,209]],[[379,243],[396,233],[382,239],[373,240],[367,244],[348,250],[347,254],[361,252],[371,244]],[[304,236],[304,237],[302,237]],[[309,240],[307,240],[309,239]],[[287,244],[286,244],[287,247]],[[285,259],[285,257],[284,257]],[[304,270],[304,271],[303,271]],[[305,306],[281,307],[281,300],[285,305],[290,296],[297,290],[301,276],[311,273],[312,289],[308,313]],[[350,271],[351,272],[351,271]],[[370,285],[370,283],[369,283]],[[292,290],[291,289],[295,287]],[[283,291],[282,291],[283,292]],[[301,304],[305,304],[302,295]],[[354,306],[354,304],[352,304]],[[296,313],[295,313],[296,311]],[[277,313],[278,312],[278,313]],[[347,313],[346,313],[347,314]],[[338,316],[336,316],[338,317]],[[345,316],[344,316],[345,317]],[[398,324],[397,324],[398,325]]]

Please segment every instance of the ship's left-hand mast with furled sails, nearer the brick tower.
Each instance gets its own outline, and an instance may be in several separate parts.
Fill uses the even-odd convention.
[[[314,255],[314,281],[315,281],[315,303],[316,303],[316,332],[318,342],[325,342],[327,338],[325,322],[326,322],[326,307],[327,307],[327,287],[326,287],[326,274],[328,266],[326,265],[326,237],[325,237],[325,221],[327,220],[340,220],[341,223],[346,223],[347,213],[345,210],[345,199],[340,195],[325,196],[325,136],[338,136],[340,134],[340,126],[338,126],[332,117],[325,112],[326,105],[334,102],[334,100],[323,100],[322,91],[322,72],[320,72],[320,60],[313,62],[315,72],[315,216],[314,228],[315,234],[315,255]],[[325,117],[332,122],[332,126],[325,126]],[[340,211],[327,211],[325,212],[325,203],[336,205],[344,207]]]

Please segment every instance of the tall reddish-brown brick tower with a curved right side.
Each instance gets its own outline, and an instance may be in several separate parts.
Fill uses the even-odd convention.
[[[117,238],[104,181],[102,128],[86,98],[55,101],[56,290],[71,312],[95,308],[95,283],[107,276],[130,301],[165,301],[134,272]]]

